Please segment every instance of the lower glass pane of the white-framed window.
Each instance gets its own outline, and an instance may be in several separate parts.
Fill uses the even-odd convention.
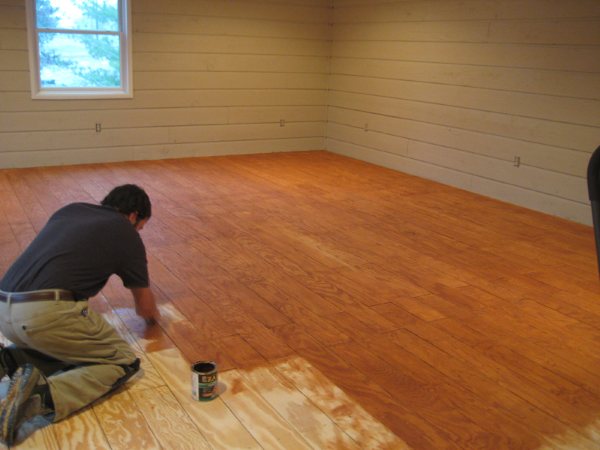
[[[42,88],[120,87],[119,36],[39,33]]]

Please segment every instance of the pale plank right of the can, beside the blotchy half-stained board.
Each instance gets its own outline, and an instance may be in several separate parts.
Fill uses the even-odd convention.
[[[363,448],[274,368],[259,367],[240,374],[313,448]]]

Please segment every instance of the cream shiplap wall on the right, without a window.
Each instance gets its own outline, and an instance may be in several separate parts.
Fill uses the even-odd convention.
[[[600,1],[334,6],[329,150],[591,223]]]

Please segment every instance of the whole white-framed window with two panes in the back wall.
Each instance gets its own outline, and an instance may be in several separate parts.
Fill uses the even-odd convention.
[[[130,0],[27,0],[33,98],[131,97]]]

